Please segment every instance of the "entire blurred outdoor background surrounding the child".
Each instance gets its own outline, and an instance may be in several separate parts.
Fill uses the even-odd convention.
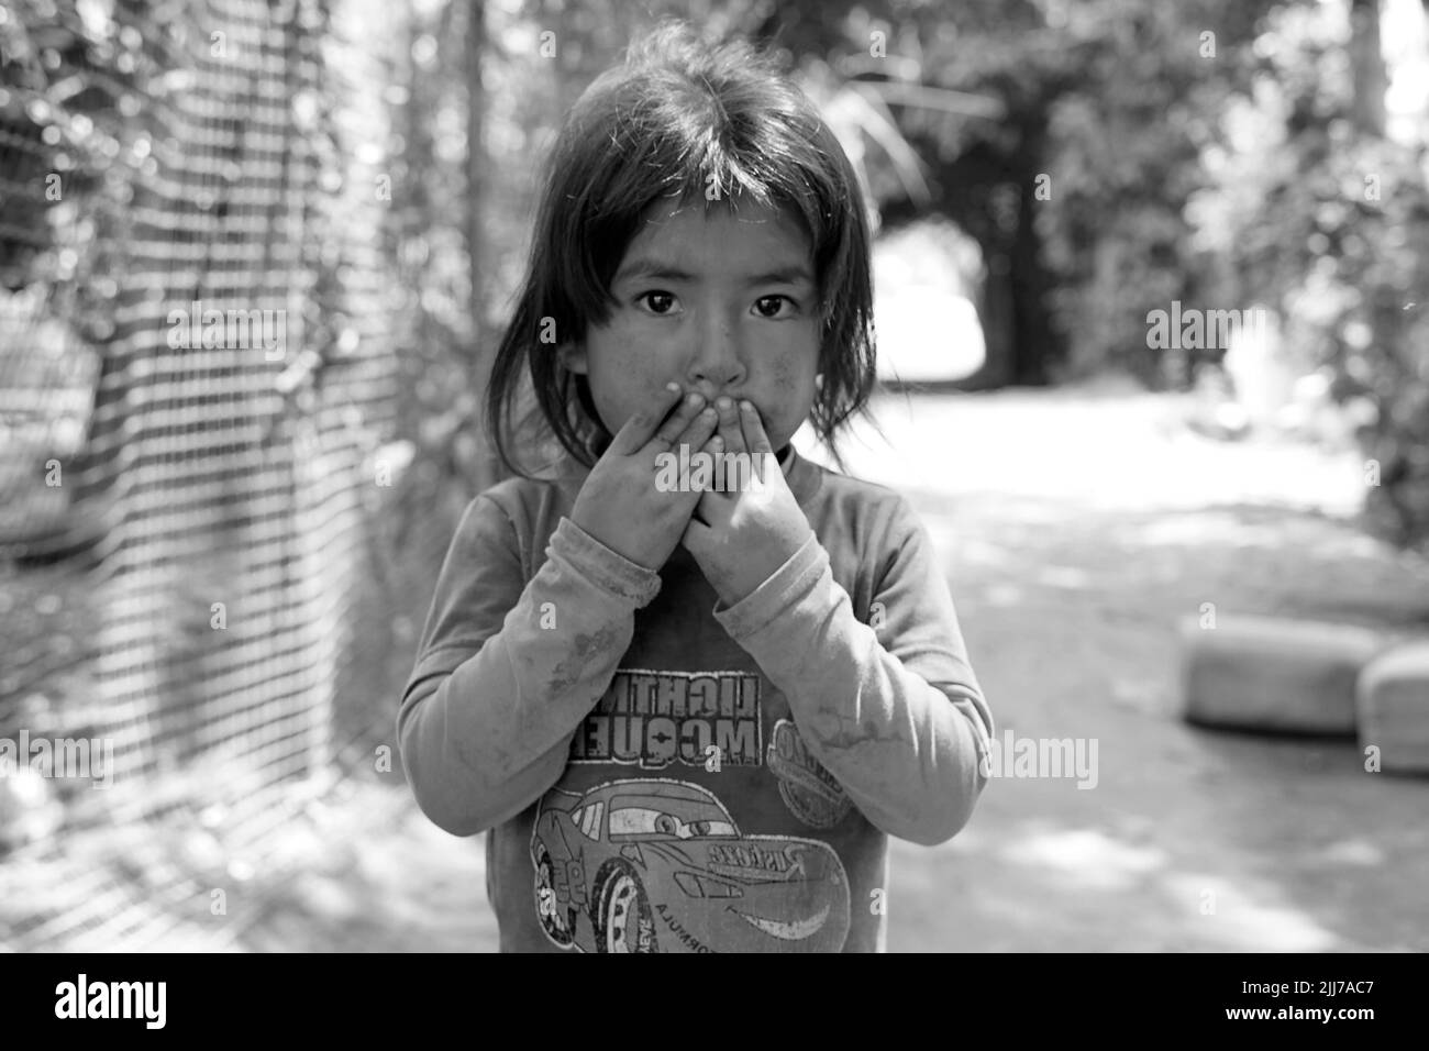
[[[662,16],[845,142],[849,469],[999,731],[1100,745],[896,844],[890,947],[1429,949],[1429,779],[1190,726],[1179,671],[1208,605],[1429,633],[1420,0],[3,0],[0,739],[111,762],[0,775],[0,947],[494,948],[393,719],[544,152]]]

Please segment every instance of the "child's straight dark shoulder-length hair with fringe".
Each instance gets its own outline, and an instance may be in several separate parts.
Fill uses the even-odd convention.
[[[813,103],[776,60],[742,40],[700,41],[663,23],[576,100],[556,140],[524,283],[487,386],[486,422],[502,462],[524,362],[536,409],[560,445],[592,466],[609,439],[586,378],[557,359],[616,306],[610,283],[646,209],[659,199],[747,196],[785,207],[810,237],[822,320],[823,383],[812,419],[833,449],[876,380],[869,222],[857,177]],[[837,459],[837,450],[833,449]]]

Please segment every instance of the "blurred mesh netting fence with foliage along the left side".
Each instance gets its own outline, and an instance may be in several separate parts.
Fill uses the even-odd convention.
[[[0,779],[0,944],[223,948],[380,598],[382,9],[0,14],[0,739],[110,782]]]

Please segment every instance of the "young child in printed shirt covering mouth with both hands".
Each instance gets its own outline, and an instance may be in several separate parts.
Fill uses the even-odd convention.
[[[927,535],[790,445],[863,409],[870,306],[853,170],[767,57],[663,27],[576,103],[492,373],[520,476],[467,508],[397,716],[423,812],[492,831],[502,949],[877,951],[887,837],[967,821],[992,716]],[[682,446],[769,466],[656,485]]]

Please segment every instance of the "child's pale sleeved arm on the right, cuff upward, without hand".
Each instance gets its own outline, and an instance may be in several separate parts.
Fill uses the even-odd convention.
[[[716,619],[785,692],[809,749],[867,819],[933,845],[967,822],[986,785],[993,724],[927,533],[900,509],[875,595],[880,628],[857,621],[816,538]]]

